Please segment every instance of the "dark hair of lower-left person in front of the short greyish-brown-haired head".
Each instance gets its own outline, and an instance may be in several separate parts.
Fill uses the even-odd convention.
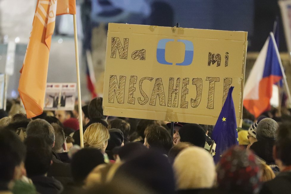
[[[27,149],[25,160],[27,176],[38,176],[47,173],[51,165],[51,146],[39,137],[27,137],[24,143]]]

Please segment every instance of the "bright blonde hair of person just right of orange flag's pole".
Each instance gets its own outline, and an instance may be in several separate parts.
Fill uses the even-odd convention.
[[[93,123],[84,133],[84,147],[95,147],[102,150],[104,143],[109,140],[109,132],[101,123]]]

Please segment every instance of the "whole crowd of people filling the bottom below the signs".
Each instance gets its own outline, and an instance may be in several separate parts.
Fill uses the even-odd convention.
[[[0,110],[0,194],[291,193],[291,117],[276,113],[244,114],[240,145],[215,164],[213,126],[174,123],[172,134],[169,122],[103,115],[100,97],[82,112],[28,119],[9,101]]]

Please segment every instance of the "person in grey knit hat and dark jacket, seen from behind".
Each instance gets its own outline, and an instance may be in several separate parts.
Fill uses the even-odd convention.
[[[271,118],[262,119],[256,129],[256,139],[250,149],[257,156],[266,161],[267,165],[275,164],[273,159],[273,146],[275,143],[275,133],[278,129],[278,123]]]

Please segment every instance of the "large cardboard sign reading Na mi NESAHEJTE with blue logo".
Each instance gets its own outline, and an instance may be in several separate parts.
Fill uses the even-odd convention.
[[[109,24],[104,115],[214,125],[230,86],[241,126],[247,32]]]

